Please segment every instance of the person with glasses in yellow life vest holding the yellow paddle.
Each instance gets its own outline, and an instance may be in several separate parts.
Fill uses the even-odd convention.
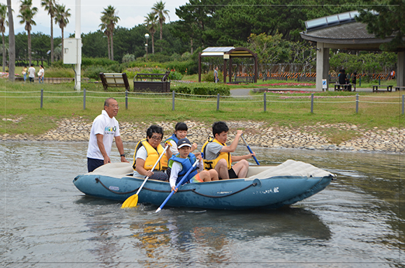
[[[135,154],[133,154],[133,177],[149,177],[149,179],[167,181],[169,176],[165,170],[168,168],[168,158],[172,157],[170,150],[166,150],[165,155],[163,155],[152,172],[154,164],[158,161],[159,156],[163,154],[164,149],[161,145],[163,128],[155,125],[149,126],[146,135],[146,139],[138,142]]]

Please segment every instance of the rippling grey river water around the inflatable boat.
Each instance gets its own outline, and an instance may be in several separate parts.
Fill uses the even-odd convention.
[[[125,144],[133,154],[135,144]],[[291,207],[216,211],[84,196],[87,143],[2,142],[3,267],[403,267],[403,156],[253,148],[337,181]],[[236,154],[246,154],[240,145]],[[119,161],[112,152],[112,161]],[[128,160],[130,157],[128,157]],[[253,161],[251,162],[253,164]]]

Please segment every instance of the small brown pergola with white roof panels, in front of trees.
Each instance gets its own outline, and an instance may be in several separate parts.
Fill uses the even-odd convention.
[[[223,58],[223,82],[226,83],[227,61],[229,61],[229,82],[232,79],[232,59],[236,57],[252,57],[254,59],[254,82],[258,81],[258,55],[244,47],[207,47],[198,54],[198,82],[201,82],[201,57]]]

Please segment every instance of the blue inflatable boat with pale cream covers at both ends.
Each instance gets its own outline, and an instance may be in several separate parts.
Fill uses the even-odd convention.
[[[143,182],[132,172],[129,163],[110,163],[75,177],[73,184],[86,195],[124,201]],[[334,177],[330,172],[293,160],[277,166],[250,166],[244,179],[184,184],[166,207],[277,209],[322,191]],[[168,182],[148,179],[138,195],[138,203],[159,207],[170,192]]]

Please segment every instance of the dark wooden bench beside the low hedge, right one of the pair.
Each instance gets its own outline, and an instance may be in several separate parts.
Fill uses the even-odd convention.
[[[138,73],[133,77],[133,91],[170,92],[170,72]]]

